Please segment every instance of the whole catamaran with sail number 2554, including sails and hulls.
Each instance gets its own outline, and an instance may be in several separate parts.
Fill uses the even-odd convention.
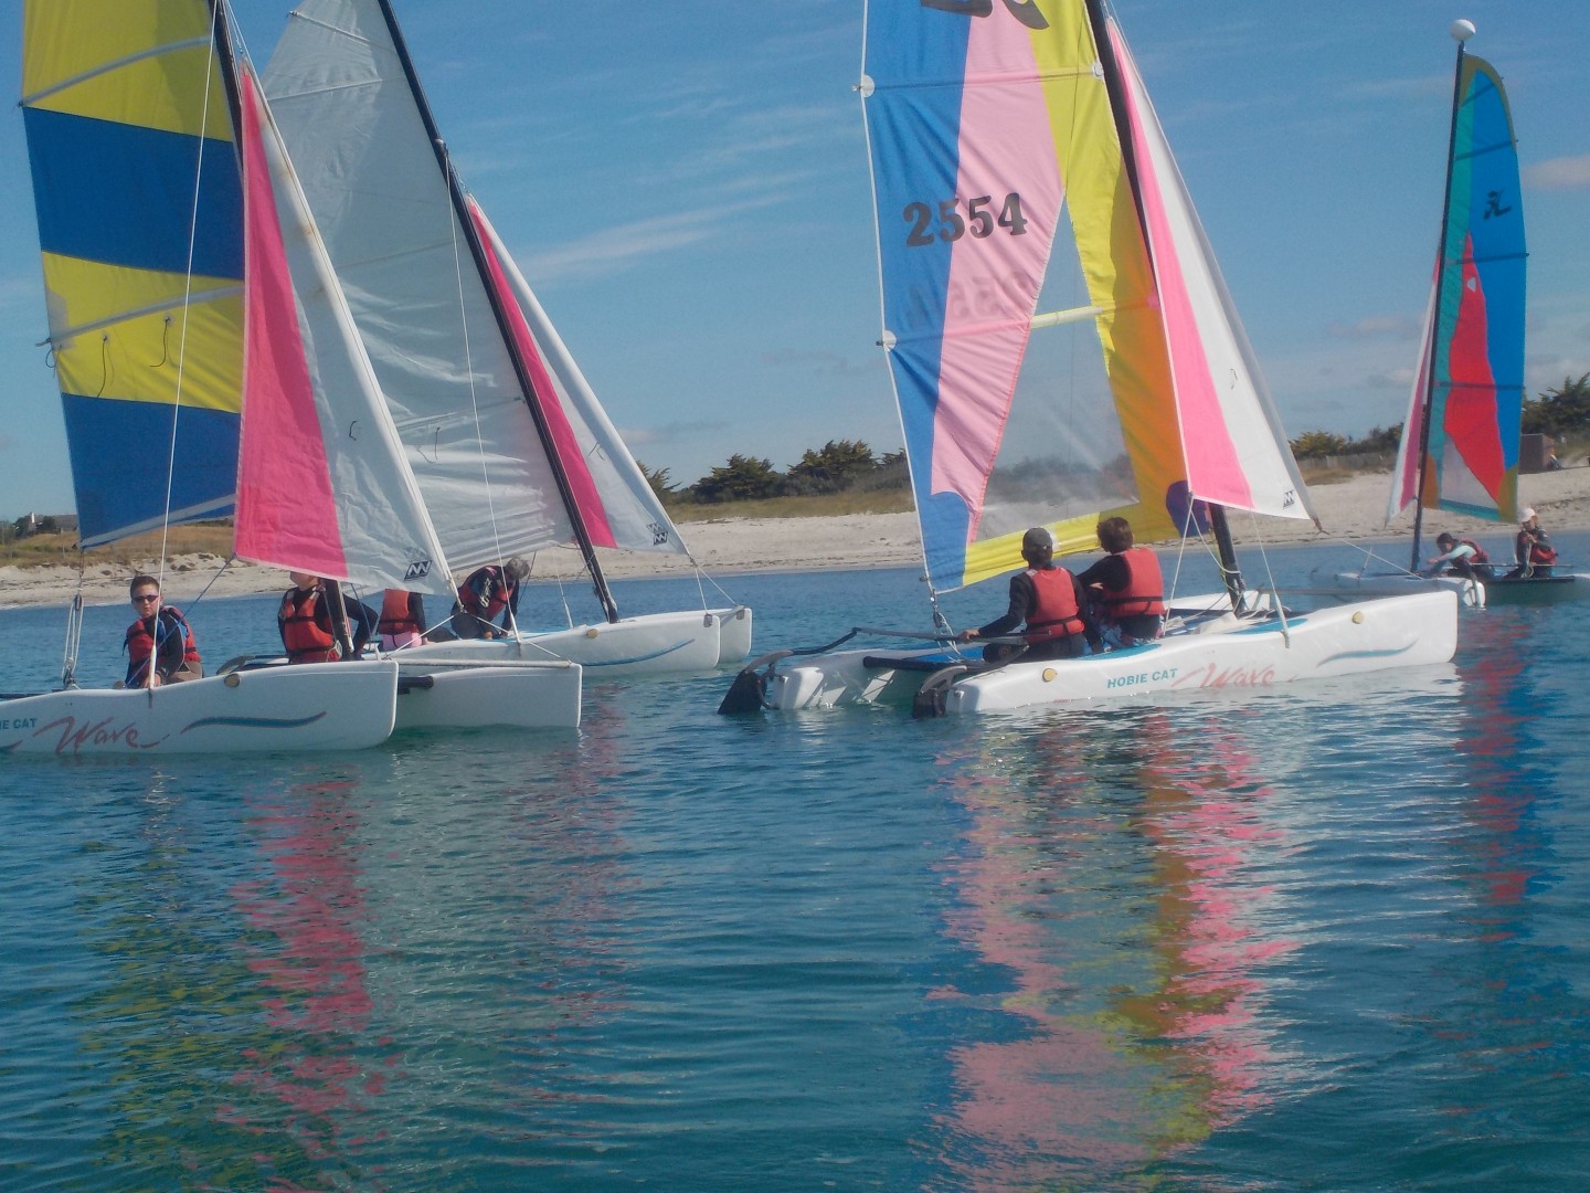
[[[774,652],[720,711],[978,713],[1450,660],[1450,592],[1294,614],[1243,585],[1226,511],[1309,519],[1309,493],[1111,11],[874,2],[865,27],[879,342],[935,616],[914,636],[938,646]],[[1075,380],[1080,328],[1103,348],[1096,391]],[[1003,665],[954,643],[938,595],[1021,566],[1027,527],[1062,554],[1094,547],[1105,515],[1156,541],[1205,509],[1226,593],[1172,601],[1162,638]]]

